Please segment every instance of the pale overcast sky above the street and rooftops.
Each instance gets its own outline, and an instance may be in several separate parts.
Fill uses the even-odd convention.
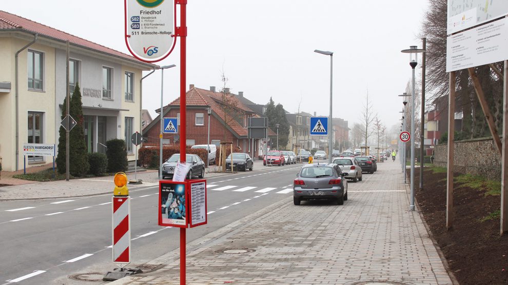
[[[123,3],[2,1],[0,9],[129,53]],[[428,0],[188,0],[187,88],[219,89],[224,69],[231,91],[243,91],[255,103],[271,96],[289,112],[296,113],[301,102],[300,111],[328,116],[330,60],[314,50],[333,51],[334,117],[348,120],[349,127],[359,122],[368,90],[389,128],[399,123],[397,95],[411,80],[409,55],[400,50],[421,47],[418,34],[428,5]],[[179,44],[158,63],[177,65],[164,73],[164,105],[179,96]],[[160,86],[161,71],[143,81],[143,109],[153,117]]]

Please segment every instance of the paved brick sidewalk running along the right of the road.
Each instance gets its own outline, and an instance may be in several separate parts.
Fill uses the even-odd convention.
[[[400,164],[380,164],[375,174],[349,183],[343,206],[294,206],[288,197],[191,242],[186,281],[452,284],[420,214],[408,211],[402,177]],[[165,264],[162,269],[111,284],[179,284],[178,258],[179,250],[167,253],[149,262]]]

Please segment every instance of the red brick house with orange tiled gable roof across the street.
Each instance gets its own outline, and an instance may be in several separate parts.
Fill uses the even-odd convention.
[[[231,114],[224,116],[225,106],[222,100],[222,92],[217,92],[215,87],[210,90],[201,89],[190,85],[189,91],[186,93],[186,144],[206,145],[208,135],[208,119],[210,120],[210,144],[219,146],[221,141],[232,141],[233,145],[240,147],[242,152],[249,153],[252,157],[262,155],[262,140],[247,138],[247,121],[250,117],[259,117],[255,111],[247,107],[238,99],[238,95],[226,94],[231,102],[233,111]],[[208,108],[211,112],[208,115]],[[156,110],[160,113],[160,109]],[[178,118],[177,125],[180,128],[180,97],[173,100],[164,107],[163,117]],[[227,120],[227,124],[225,121]],[[143,137],[147,138],[148,144],[159,144],[160,134],[160,115],[143,130]],[[269,136],[276,135],[271,130]],[[163,144],[175,144],[180,139],[175,134],[164,134]],[[254,146],[252,148],[252,146]]]

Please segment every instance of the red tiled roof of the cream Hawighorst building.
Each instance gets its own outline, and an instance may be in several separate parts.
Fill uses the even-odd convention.
[[[146,66],[150,66],[151,68],[156,67],[157,65],[144,63],[141,60],[136,59],[135,57],[110,49],[105,46],[101,46],[99,44],[95,44],[90,42],[89,40],[83,39],[81,37],[77,37],[71,35],[69,33],[48,27],[46,25],[30,21],[29,19],[5,12],[0,10],[0,29],[22,29],[32,33],[37,33],[41,35],[45,35],[48,37],[52,37],[60,40],[69,40],[69,43],[72,43],[77,46],[82,46],[85,48],[89,48],[92,50],[100,51],[103,53],[107,53],[113,56],[125,58],[131,60],[132,62],[136,62],[139,64],[143,64]]]

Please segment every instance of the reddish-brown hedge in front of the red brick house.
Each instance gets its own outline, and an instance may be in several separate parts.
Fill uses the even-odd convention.
[[[141,167],[159,168],[159,145],[144,144],[138,150],[138,160]],[[180,153],[179,145],[164,145],[162,146],[162,161],[166,161],[171,155]],[[190,146],[185,148],[187,154],[197,154],[203,161],[208,157],[205,149],[191,149]]]

